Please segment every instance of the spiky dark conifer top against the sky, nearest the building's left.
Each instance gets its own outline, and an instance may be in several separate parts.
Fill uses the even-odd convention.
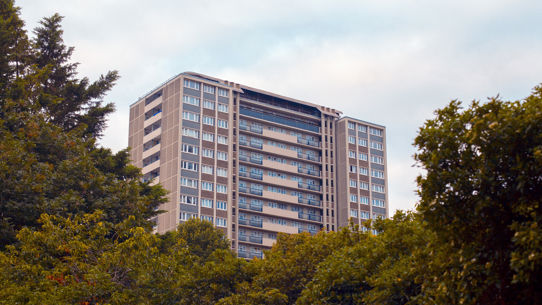
[[[98,137],[105,128],[106,116],[114,111],[112,103],[103,104],[103,97],[119,76],[117,71],[110,71],[93,83],[76,78],[77,64],[70,62],[74,48],[64,45],[62,18],[58,14],[44,18],[34,30],[33,63],[47,75],[41,78],[36,102],[49,122],[66,131],[83,127],[84,136]]]

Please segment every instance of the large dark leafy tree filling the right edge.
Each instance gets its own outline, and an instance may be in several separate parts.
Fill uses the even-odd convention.
[[[542,87],[460,105],[436,111],[415,139],[418,210],[446,245],[428,292],[437,303],[540,304]]]

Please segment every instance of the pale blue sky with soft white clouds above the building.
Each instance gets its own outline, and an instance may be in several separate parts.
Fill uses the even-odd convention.
[[[540,0],[24,0],[31,34],[64,16],[79,76],[121,79],[101,139],[128,145],[129,106],[194,71],[386,126],[390,215],[415,208],[412,145],[436,109],[459,99],[527,97],[542,83]]]

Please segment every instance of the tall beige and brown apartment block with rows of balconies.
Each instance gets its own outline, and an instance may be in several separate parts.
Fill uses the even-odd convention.
[[[130,107],[132,161],[169,191],[157,232],[211,221],[241,257],[277,233],[388,216],[381,125],[329,107],[185,72]]]

